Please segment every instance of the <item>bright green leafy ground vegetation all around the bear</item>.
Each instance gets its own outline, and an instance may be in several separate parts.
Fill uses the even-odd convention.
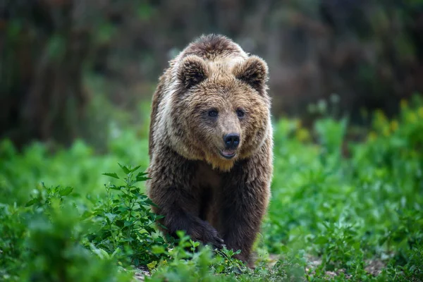
[[[101,155],[82,141],[51,154],[3,140],[0,280],[132,281],[144,271],[147,281],[421,281],[423,103],[412,105],[391,121],[376,112],[362,142],[346,140],[347,119],[274,123],[255,270],[231,250],[155,231],[142,193],[145,125],[110,130]]]

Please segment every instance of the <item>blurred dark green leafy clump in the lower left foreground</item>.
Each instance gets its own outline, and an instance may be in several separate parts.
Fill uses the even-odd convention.
[[[71,205],[51,207],[50,216],[35,216],[29,223],[29,254],[23,280],[31,281],[130,281],[111,259],[98,259],[80,243],[87,223]],[[25,273],[26,272],[26,273]]]

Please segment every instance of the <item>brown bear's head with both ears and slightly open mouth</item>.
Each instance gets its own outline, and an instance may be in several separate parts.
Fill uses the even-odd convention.
[[[268,68],[257,56],[207,61],[188,55],[176,66],[168,131],[179,154],[228,171],[271,134]]]

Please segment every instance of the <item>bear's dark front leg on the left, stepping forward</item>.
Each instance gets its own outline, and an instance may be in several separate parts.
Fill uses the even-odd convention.
[[[149,166],[151,179],[147,186],[150,199],[158,206],[152,207],[153,212],[164,215],[159,223],[166,229],[161,228],[161,231],[176,237],[176,231],[183,230],[193,240],[222,247],[223,240],[216,229],[200,219],[200,191],[191,185],[197,164],[183,159],[168,147],[160,149],[162,157],[154,157]]]

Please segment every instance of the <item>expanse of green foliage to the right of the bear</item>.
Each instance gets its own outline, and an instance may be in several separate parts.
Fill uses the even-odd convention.
[[[313,279],[332,271],[372,280],[366,268],[374,261],[386,265],[377,271],[381,280],[422,275],[423,103],[415,97],[412,104],[401,103],[398,120],[376,111],[360,143],[345,140],[345,120],[317,121],[318,145],[304,144],[299,137],[312,133],[298,135],[306,129],[295,121],[276,123],[273,195],[263,231],[270,252],[319,257]]]

